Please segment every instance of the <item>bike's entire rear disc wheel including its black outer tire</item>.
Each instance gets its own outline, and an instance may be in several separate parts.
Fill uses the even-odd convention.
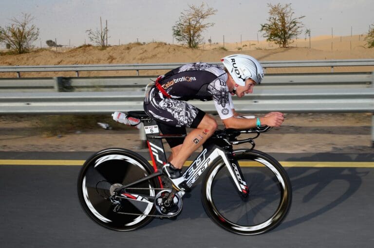
[[[78,176],[78,198],[83,210],[97,224],[112,230],[130,231],[147,225],[153,219],[147,215],[156,211],[153,203],[120,198],[120,204],[113,205],[109,197],[114,186],[129,184],[153,172],[145,158],[126,149],[105,149],[93,154]],[[155,177],[134,187],[139,189],[126,191],[155,196],[160,182]],[[114,211],[115,207],[120,211]],[[139,215],[124,214],[129,212]]]

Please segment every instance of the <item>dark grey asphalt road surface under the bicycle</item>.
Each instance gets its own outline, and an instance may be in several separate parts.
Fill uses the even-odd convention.
[[[0,159],[85,159],[90,153],[1,153]],[[278,160],[373,162],[373,154],[273,154]],[[293,203],[284,222],[257,236],[215,225],[200,185],[177,220],[154,219],[131,232],[94,223],[76,193],[80,166],[0,165],[0,247],[339,247],[374,243],[374,168],[287,167]]]

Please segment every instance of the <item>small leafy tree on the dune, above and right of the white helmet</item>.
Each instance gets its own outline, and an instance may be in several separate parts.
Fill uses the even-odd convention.
[[[282,6],[267,4],[270,8],[268,23],[261,24],[261,32],[264,32],[263,37],[267,41],[273,41],[282,47],[293,42],[293,38],[297,38],[302,33],[301,28],[304,26],[300,19],[305,16],[293,18],[295,14],[291,8],[291,3]]]

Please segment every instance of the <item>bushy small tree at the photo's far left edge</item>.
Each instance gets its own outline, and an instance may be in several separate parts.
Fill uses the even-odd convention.
[[[0,27],[0,43],[9,44],[10,49],[18,54],[30,51],[33,42],[39,36],[39,29],[31,24],[34,18],[30,14],[22,13],[22,19],[13,18],[10,26]]]

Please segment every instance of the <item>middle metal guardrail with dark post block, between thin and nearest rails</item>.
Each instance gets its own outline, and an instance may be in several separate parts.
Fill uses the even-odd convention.
[[[72,91],[128,91],[140,90],[157,76],[115,77],[49,77],[49,78],[0,78],[0,92],[72,92]],[[353,87],[372,85],[374,74],[364,73],[314,73],[267,74],[262,87]]]

